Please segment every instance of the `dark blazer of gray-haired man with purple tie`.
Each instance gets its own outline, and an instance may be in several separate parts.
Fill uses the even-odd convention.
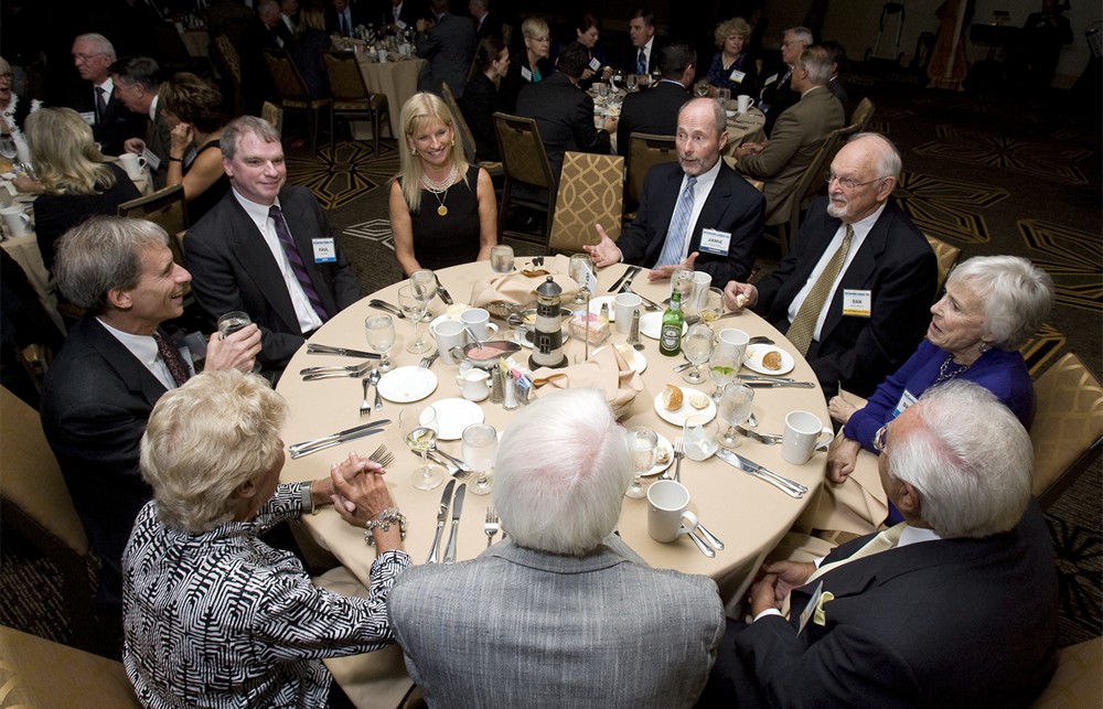
[[[314,262],[311,239],[333,232],[308,189],[285,186],[279,202],[310,280],[333,316],[360,299],[356,275],[340,247],[335,262]],[[212,321],[232,310],[249,313],[260,327],[260,362],[282,369],[302,345],[302,330],[279,266],[233,191],[188,230],[184,255],[192,290]]]

